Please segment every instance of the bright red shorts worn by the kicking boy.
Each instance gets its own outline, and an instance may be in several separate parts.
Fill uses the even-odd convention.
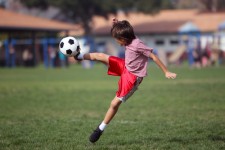
[[[130,73],[125,67],[124,59],[110,56],[108,74],[120,76],[116,96],[125,102],[136,90],[142,81],[142,77]]]

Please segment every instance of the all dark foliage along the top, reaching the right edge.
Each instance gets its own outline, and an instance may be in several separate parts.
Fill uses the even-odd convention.
[[[202,8],[207,11],[222,11],[225,9],[224,0],[21,0],[28,7],[46,9],[56,6],[71,22],[81,24],[86,34],[91,32],[91,21],[95,15],[107,18],[109,13],[118,10],[124,12],[139,11],[156,14],[162,9]]]

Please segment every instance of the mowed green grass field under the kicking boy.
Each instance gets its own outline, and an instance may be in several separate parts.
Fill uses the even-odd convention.
[[[139,90],[121,105],[100,140],[118,77],[100,64],[85,70],[0,69],[0,149],[225,149],[225,68],[170,68],[153,63]]]

